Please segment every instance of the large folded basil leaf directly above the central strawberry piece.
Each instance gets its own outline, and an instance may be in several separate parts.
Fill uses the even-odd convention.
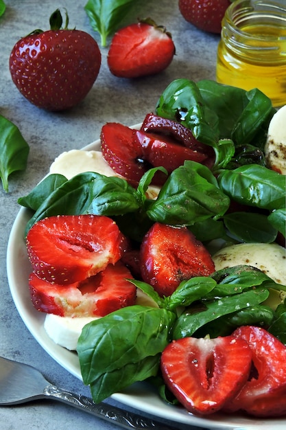
[[[156,201],[150,203],[147,216],[159,223],[192,225],[222,216],[229,203],[211,170],[195,161],[185,161],[171,173]]]

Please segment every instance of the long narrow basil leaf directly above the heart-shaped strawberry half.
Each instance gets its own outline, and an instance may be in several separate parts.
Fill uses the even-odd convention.
[[[202,328],[204,324],[214,321],[222,317],[222,315],[228,315],[239,309],[262,303],[267,299],[268,295],[269,291],[267,288],[257,286],[241,294],[204,302],[203,308],[202,304],[200,304],[199,309],[195,306],[188,308],[176,320],[173,328],[173,337],[174,339],[180,339],[181,337],[193,336],[196,330]]]

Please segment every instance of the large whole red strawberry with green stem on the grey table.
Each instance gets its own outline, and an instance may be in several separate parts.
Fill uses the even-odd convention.
[[[96,41],[86,32],[62,29],[59,10],[50,18],[51,30],[36,30],[21,38],[10,54],[10,73],[29,102],[49,111],[62,111],[81,102],[101,65]]]

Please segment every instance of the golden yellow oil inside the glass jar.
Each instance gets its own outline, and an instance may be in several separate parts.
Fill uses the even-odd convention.
[[[217,49],[217,82],[258,88],[273,106],[286,104],[286,26],[252,24],[222,32]]]

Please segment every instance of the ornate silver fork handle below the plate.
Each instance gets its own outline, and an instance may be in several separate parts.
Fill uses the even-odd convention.
[[[94,403],[93,400],[81,394],[75,394],[55,385],[47,385],[44,390],[45,396],[54,400],[60,400],[68,405],[78,407],[90,414],[112,421],[123,429],[145,429],[145,430],[176,430],[175,427],[167,427],[158,421],[123,411],[119,407],[110,406],[106,403]]]

